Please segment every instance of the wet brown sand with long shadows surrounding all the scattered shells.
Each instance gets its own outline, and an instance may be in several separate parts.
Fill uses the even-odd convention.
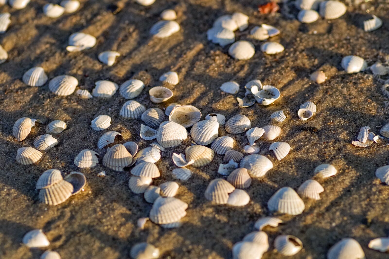
[[[3,259],[38,258],[43,250],[28,249],[21,244],[23,235],[42,228],[51,245],[62,258],[128,258],[132,245],[147,241],[161,250],[160,258],[231,258],[232,245],[254,230],[254,222],[270,215],[266,203],[283,186],[296,189],[310,179],[314,168],[321,163],[332,163],[338,174],[325,181],[324,193],[318,202],[306,202],[303,214],[282,216],[285,224],[266,229],[269,242],[279,234],[298,236],[304,248],[294,259],[324,259],[334,243],[343,237],[353,237],[361,243],[369,259],[389,258],[388,254],[368,249],[370,239],[389,234],[389,187],[376,179],[378,166],[388,164],[388,148],[374,144],[357,148],[350,143],[359,128],[365,125],[378,134],[376,126],[384,125],[389,116],[381,83],[370,72],[347,75],[340,66],[346,55],[365,58],[369,65],[384,61],[389,51],[389,5],[385,0],[365,3],[371,13],[384,22],[377,31],[364,32],[357,23],[359,14],[366,14],[360,6],[348,7],[348,13],[333,21],[320,19],[303,25],[287,20],[282,14],[259,15],[256,6],[264,1],[251,0],[157,0],[151,7],[123,1],[125,7],[114,15],[108,0],[82,0],[74,14],[58,19],[45,17],[43,0],[32,1],[23,10],[3,6],[1,12],[11,12],[12,24],[0,43],[9,53],[9,60],[0,66],[0,257]],[[149,29],[167,9],[177,11],[181,30],[166,39],[152,39]],[[259,51],[260,42],[252,40],[257,52],[248,61],[236,61],[228,56],[228,46],[221,48],[207,42],[206,31],[222,14],[240,11],[250,16],[249,29],[268,23],[282,33],[272,40],[282,43],[285,51],[267,56]],[[293,14],[297,10],[293,9]],[[237,31],[237,40],[247,39],[248,30]],[[65,50],[71,33],[84,31],[98,42],[93,49],[69,53]],[[314,34],[317,31],[317,34]],[[112,67],[101,64],[98,53],[117,50],[122,54]],[[223,156],[216,155],[208,166],[195,169],[194,176],[180,183],[178,198],[189,204],[184,224],[177,229],[163,229],[147,222],[144,230],[137,229],[139,217],[148,216],[151,204],[142,195],[128,189],[130,173],[115,172],[98,164],[92,169],[79,170],[73,163],[82,149],[93,149],[100,154],[97,140],[103,132],[91,129],[90,122],[97,115],[112,117],[109,130],[121,132],[126,141],[135,141],[140,148],[153,141],[139,136],[140,120],[130,121],[119,116],[125,100],[117,92],[110,99],[82,100],[78,96],[54,96],[43,87],[28,87],[23,73],[33,66],[42,66],[49,78],[57,75],[77,77],[81,89],[92,90],[97,80],[112,80],[118,84],[130,78],[143,80],[146,88],[135,98],[147,108],[165,108],[169,103],[192,104],[203,116],[221,113],[227,118],[242,113],[253,126],[270,123],[270,114],[284,110],[287,119],[279,123],[282,133],[278,141],[285,141],[293,150],[281,162],[267,151],[271,141],[257,141],[261,154],[270,158],[274,167],[263,179],[253,179],[248,193],[249,205],[242,208],[213,205],[203,193],[210,180],[221,177],[217,168]],[[322,68],[328,80],[317,85],[309,80],[313,71]],[[156,85],[159,76],[169,70],[179,74],[180,83],[174,96],[166,103],[154,104],[148,90]],[[244,94],[243,85],[252,79],[274,85],[281,97],[268,107],[258,104],[239,108],[235,97]],[[221,93],[223,82],[235,80],[241,90],[235,96]],[[314,118],[302,122],[296,112],[301,103],[317,104]],[[58,138],[58,146],[44,152],[42,159],[30,166],[16,163],[16,150],[33,146],[36,136],[45,134],[45,126],[33,127],[22,142],[12,136],[12,126],[21,117],[45,120],[64,120],[68,129]],[[219,136],[228,135],[223,129]],[[229,135],[231,136],[231,135]],[[245,134],[232,136],[235,149],[246,144]],[[156,164],[162,176],[153,184],[173,180],[172,153],[183,153],[190,145],[188,138],[181,146],[167,149]],[[64,173],[81,171],[88,186],[67,202],[49,207],[38,200],[35,183],[44,170],[56,168]],[[105,178],[98,172],[105,171]],[[264,259],[283,258],[273,251]]]

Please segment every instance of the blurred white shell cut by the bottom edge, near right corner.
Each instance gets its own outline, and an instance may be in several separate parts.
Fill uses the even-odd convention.
[[[327,253],[327,259],[364,259],[361,245],[354,238],[343,238],[333,245]]]

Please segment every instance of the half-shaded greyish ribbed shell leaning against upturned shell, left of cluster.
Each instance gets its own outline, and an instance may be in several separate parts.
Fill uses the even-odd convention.
[[[123,172],[124,167],[128,167],[131,162],[131,154],[122,144],[116,144],[112,148],[108,148],[103,157],[103,165],[119,172]]]

